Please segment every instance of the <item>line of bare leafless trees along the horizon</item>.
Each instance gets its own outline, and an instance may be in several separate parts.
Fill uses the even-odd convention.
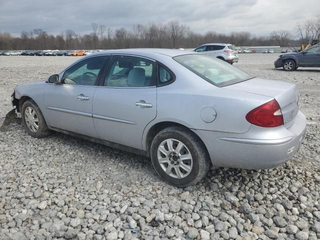
[[[293,34],[289,30],[280,29],[266,36],[255,36],[246,31],[228,34],[207,31],[201,34],[178,21],[136,24],[131,29],[112,29],[93,22],[91,28],[92,32],[84,35],[76,34],[71,29],[56,35],[42,29],[22,31],[20,36],[0,32],[0,49],[193,48],[208,42],[231,43],[236,46],[296,46],[320,37],[320,15],[296,22]]]

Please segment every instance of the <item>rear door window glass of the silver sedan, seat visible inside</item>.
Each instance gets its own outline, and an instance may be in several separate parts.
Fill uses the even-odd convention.
[[[155,86],[155,63],[134,56],[114,56],[104,85],[113,87]]]

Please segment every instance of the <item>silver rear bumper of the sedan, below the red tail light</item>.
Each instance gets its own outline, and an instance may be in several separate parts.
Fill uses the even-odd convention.
[[[301,111],[288,129],[254,125],[245,133],[193,129],[204,142],[214,166],[246,169],[272,168],[286,162],[298,151],[305,130],[306,119]]]

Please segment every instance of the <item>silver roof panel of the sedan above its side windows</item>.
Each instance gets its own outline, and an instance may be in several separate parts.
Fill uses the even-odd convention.
[[[97,51],[93,55],[102,55],[102,54],[132,54],[132,55],[141,55],[141,56],[152,56],[152,55],[167,55],[167,56],[178,56],[185,54],[194,54],[193,51],[180,50],[180,49],[167,49],[167,48],[127,48],[127,49],[114,49],[114,50],[102,50]]]

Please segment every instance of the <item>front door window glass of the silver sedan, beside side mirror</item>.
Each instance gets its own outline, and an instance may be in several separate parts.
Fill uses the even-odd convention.
[[[62,84],[94,85],[107,56],[96,56],[84,59],[67,69]]]

